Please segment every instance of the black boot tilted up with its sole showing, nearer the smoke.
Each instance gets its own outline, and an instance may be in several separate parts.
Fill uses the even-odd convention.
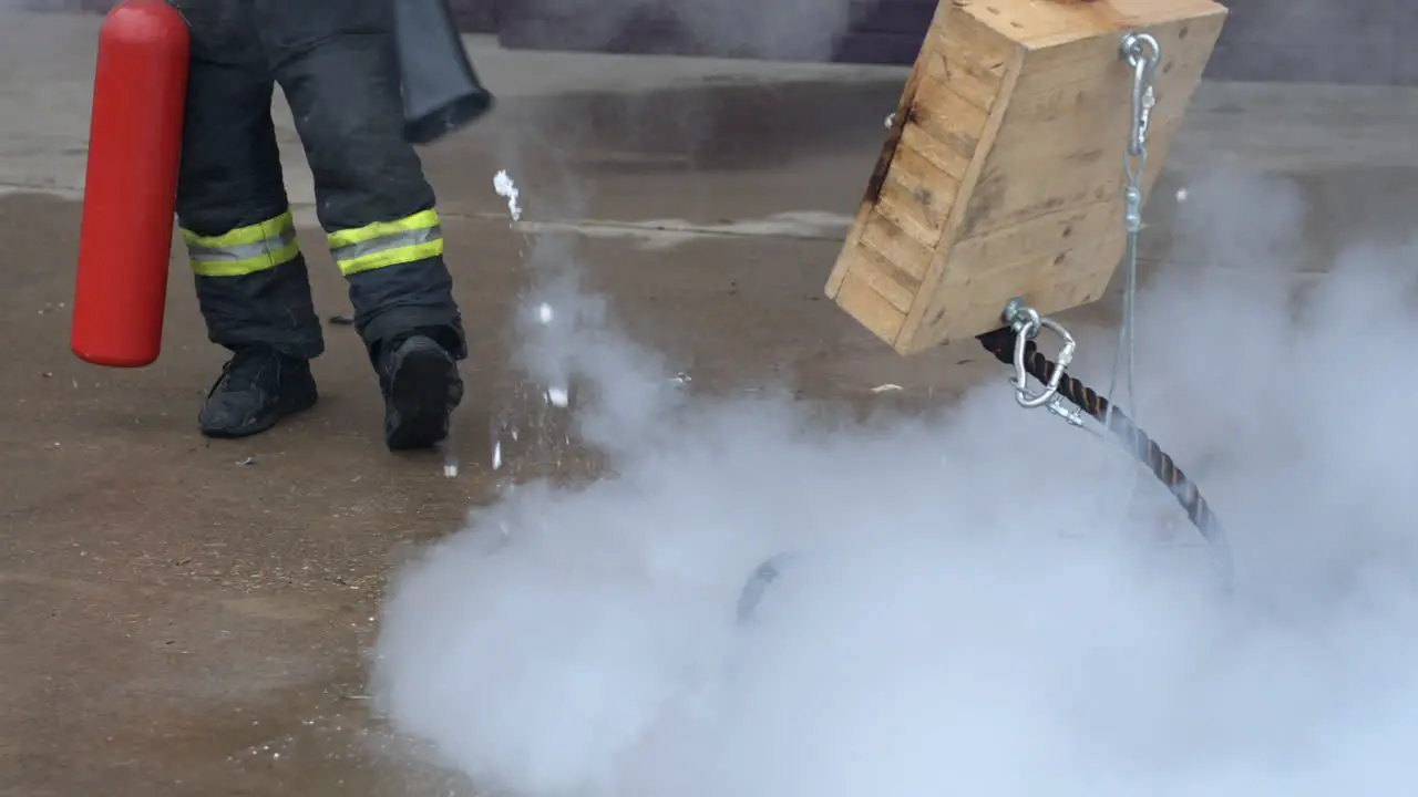
[[[397,340],[379,357],[384,391],[384,444],[390,451],[431,448],[448,437],[462,401],[458,362],[423,335]]]

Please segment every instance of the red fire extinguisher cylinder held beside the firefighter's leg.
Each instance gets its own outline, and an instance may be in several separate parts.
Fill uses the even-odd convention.
[[[140,367],[162,349],[190,35],[164,0],[123,0],[98,34],[69,349]]]

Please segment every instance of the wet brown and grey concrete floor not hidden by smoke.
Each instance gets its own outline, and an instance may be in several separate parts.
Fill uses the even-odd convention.
[[[451,444],[462,474],[383,450],[346,326],[328,329],[316,411],[204,441],[194,414],[223,353],[180,262],[157,364],[101,370],[68,352],[95,30],[0,14],[0,796],[462,793],[370,719],[363,650],[408,545],[554,467],[536,451],[489,467],[489,430],[526,411],[508,321],[532,278],[496,169],[522,184],[529,231],[564,237],[590,288],[695,390],[788,380],[805,398],[910,403],[1004,377],[970,347],[903,362],[821,299],[902,71],[472,40],[503,104],[424,153],[472,338]],[[342,313],[281,118],[316,302]],[[1349,240],[1407,234],[1415,122],[1411,91],[1205,85],[1167,180],[1214,162],[1292,176],[1322,268]],[[1168,245],[1167,196],[1150,210],[1150,258]],[[888,381],[905,390],[872,398]]]

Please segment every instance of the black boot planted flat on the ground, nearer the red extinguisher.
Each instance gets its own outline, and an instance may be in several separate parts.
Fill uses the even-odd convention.
[[[250,437],[309,410],[318,398],[309,362],[254,346],[221,367],[197,421],[207,437]]]

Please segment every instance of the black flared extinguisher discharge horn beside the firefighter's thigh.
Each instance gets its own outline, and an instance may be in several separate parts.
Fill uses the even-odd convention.
[[[447,0],[394,0],[394,38],[406,140],[432,143],[492,108],[492,95],[472,71]]]

